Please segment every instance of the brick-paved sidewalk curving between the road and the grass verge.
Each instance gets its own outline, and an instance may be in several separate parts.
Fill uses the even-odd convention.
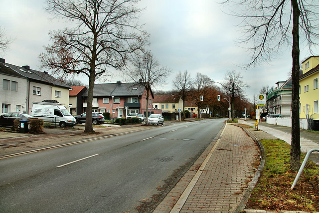
[[[206,165],[197,171],[200,175],[194,176],[195,184],[185,190],[189,190],[189,195],[182,195],[171,213],[234,212],[255,175],[252,163],[259,160],[259,149],[240,127],[226,125],[206,160]],[[185,201],[180,205],[182,200]],[[160,206],[154,213],[170,211]]]

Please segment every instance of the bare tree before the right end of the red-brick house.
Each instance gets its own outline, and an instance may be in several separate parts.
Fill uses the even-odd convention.
[[[160,62],[151,52],[146,52],[142,57],[137,55],[133,59],[133,68],[128,67],[126,74],[137,83],[142,84],[146,89],[146,101],[149,103],[150,93],[154,85],[161,85],[171,72],[167,66],[160,65]],[[148,121],[148,107],[146,107],[146,122]]]

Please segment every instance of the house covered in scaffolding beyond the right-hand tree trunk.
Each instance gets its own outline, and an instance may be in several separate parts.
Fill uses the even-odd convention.
[[[291,117],[292,78],[287,81],[278,81],[267,94],[267,104],[270,114],[282,114]]]

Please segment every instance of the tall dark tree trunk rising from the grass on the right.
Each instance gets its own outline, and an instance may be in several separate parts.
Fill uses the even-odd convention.
[[[293,7],[293,69],[292,69],[292,128],[290,169],[298,171],[300,168],[300,125],[299,125],[299,75],[300,75],[300,49],[299,49],[299,15],[300,10],[297,0],[291,0]]]

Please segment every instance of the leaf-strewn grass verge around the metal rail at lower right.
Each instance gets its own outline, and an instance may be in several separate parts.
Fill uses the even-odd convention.
[[[319,166],[308,160],[297,186],[290,190],[297,175],[290,170],[290,145],[282,140],[261,142],[266,150],[266,163],[246,208],[319,211]]]

